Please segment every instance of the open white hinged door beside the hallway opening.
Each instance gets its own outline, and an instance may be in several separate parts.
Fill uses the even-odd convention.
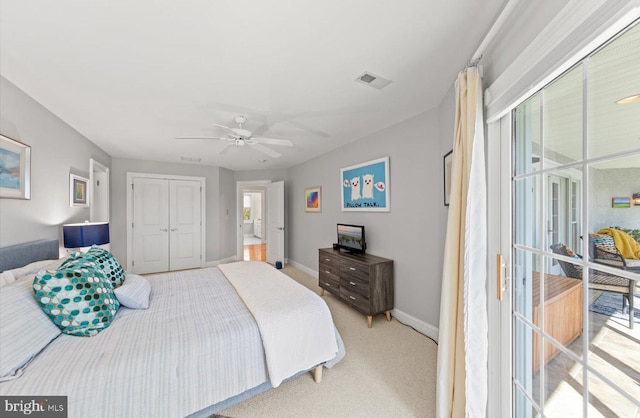
[[[284,182],[267,186],[267,262],[284,264]]]

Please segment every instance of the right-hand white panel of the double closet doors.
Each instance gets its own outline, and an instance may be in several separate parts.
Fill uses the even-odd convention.
[[[201,190],[199,181],[169,182],[171,270],[201,266]]]

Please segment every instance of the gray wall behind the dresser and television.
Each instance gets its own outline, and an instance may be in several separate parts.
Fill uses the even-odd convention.
[[[317,271],[336,223],[366,227],[367,252],[394,260],[395,308],[438,326],[442,152],[439,113],[428,111],[289,170],[289,259]],[[390,212],[342,212],[340,168],[389,156]],[[304,212],[304,189],[322,187],[322,212]]]

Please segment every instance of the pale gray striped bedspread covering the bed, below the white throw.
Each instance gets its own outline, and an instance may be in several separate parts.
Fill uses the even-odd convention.
[[[147,278],[149,309],[120,308],[91,338],[58,336],[0,395],[68,396],[69,417],[182,417],[295,373],[277,363],[271,376],[262,331],[220,269]]]

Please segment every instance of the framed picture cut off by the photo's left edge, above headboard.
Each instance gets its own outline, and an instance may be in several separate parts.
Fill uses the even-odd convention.
[[[31,199],[31,147],[0,135],[0,197]]]

